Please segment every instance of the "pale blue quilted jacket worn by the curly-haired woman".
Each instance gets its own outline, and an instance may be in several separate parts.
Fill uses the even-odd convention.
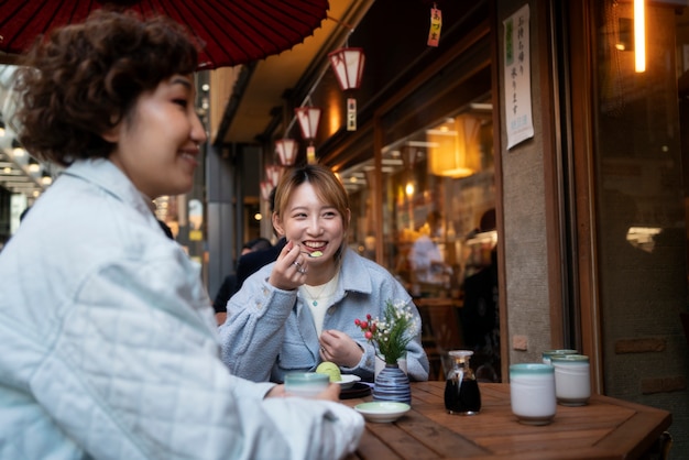
[[[197,264],[107,160],[79,162],[0,252],[0,459],[329,459],[363,420],[269,398],[219,359]]]

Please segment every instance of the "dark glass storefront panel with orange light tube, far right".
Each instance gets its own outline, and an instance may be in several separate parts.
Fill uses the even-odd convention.
[[[672,451],[686,452],[687,2],[645,2],[645,15],[636,17],[632,2],[589,7],[591,155],[577,156],[575,167],[590,161],[599,283],[591,322],[600,329],[601,390],[670,409]],[[635,18],[645,19],[644,46],[635,42]]]

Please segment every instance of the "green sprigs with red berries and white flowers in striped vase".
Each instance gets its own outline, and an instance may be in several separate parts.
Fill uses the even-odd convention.
[[[401,300],[386,300],[382,319],[367,315],[365,320],[354,319],[354,325],[361,328],[363,337],[373,343],[387,364],[396,364],[404,357],[407,344],[418,330],[408,305]]]

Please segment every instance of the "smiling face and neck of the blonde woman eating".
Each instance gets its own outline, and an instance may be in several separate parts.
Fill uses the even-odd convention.
[[[322,201],[309,182],[293,188],[285,210],[273,215],[275,229],[287,241],[299,244],[305,252],[322,252],[319,258],[308,258],[309,267],[318,267],[309,269],[309,278],[314,274],[326,281],[335,274],[335,255],[344,240],[346,221],[349,215],[342,216],[335,206]]]

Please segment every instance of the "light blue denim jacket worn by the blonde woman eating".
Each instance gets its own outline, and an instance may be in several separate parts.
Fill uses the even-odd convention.
[[[228,319],[220,326],[222,361],[231,372],[255,382],[282,382],[289,371],[314,371],[320,363],[314,318],[298,289],[283,291],[267,278],[271,263],[251,275],[228,302]],[[343,373],[371,381],[375,369],[375,349],[363,337],[354,319],[367,314],[382,317],[386,300],[401,300],[411,307],[418,326],[407,346],[407,371],[411,380],[428,380],[428,358],[420,340],[420,317],[406,289],[373,261],[354,251],[344,251],[338,286],[329,305],[322,329],[346,332],[364,350],[354,368],[341,366]]]

